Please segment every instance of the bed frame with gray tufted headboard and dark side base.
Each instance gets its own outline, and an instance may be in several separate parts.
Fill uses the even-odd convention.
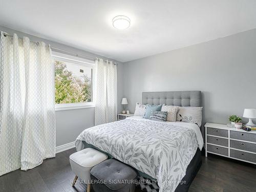
[[[167,92],[142,92],[142,104],[166,104],[175,106],[201,106],[201,91],[167,91]],[[185,192],[202,165],[201,151],[198,149],[186,169],[175,192]],[[184,181],[186,181],[184,183]]]

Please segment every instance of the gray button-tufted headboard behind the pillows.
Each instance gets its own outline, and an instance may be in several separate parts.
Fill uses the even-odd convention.
[[[201,106],[201,91],[142,92],[142,104]]]

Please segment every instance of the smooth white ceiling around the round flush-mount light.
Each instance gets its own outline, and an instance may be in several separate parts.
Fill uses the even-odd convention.
[[[254,29],[256,1],[0,0],[0,25],[124,62]]]

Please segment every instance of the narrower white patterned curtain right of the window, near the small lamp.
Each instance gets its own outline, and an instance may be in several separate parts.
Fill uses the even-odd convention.
[[[117,67],[112,61],[96,59],[95,125],[117,120]]]

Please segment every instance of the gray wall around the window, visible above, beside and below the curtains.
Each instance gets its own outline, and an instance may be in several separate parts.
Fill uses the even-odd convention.
[[[0,30],[5,31],[9,34],[16,33],[19,37],[27,36],[32,41],[44,41],[46,44],[50,44],[55,48],[63,49],[72,53],[78,53],[78,54],[83,54],[90,57],[100,57],[103,59],[107,59],[100,55],[75,49],[63,44],[59,44],[57,42],[49,41],[47,39],[42,39],[26,33],[5,28],[3,26],[0,26]],[[119,61],[115,61],[115,62],[117,62],[118,103],[121,103],[121,98],[123,96],[123,82],[122,82],[123,63]],[[56,111],[56,146],[75,141],[76,137],[84,129],[94,126],[94,111],[95,111],[94,108]],[[118,105],[118,112],[120,111],[121,111],[121,104]]]

